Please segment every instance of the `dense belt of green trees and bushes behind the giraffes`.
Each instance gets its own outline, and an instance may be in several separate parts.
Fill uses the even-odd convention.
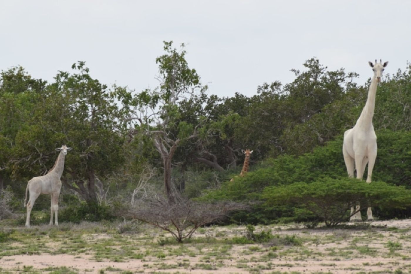
[[[312,58],[303,71],[292,70],[291,83],[273,80],[252,97],[221,98],[201,84],[186,55],[184,45],[164,42],[164,54],[155,60],[159,86],[141,92],[100,83],[85,62],[73,64],[72,72],[58,71],[52,83],[22,67],[3,70],[0,192],[9,186],[13,203],[21,199],[27,181],[44,175],[55,148],[67,144],[73,150],[62,176],[62,220],[111,218],[113,208],[132,199],[159,192],[170,198],[172,191],[202,202],[249,201],[252,210],[231,221],[325,220],[313,207],[298,205],[303,214],[297,214],[295,203],[274,201],[297,186],[318,190],[307,192],[314,198],[327,187],[325,193],[334,193],[333,184],[354,185],[344,179],[342,134],[355,124],[369,81],[358,85],[356,73],[329,71]],[[411,189],[411,64],[379,84],[374,128],[379,148],[373,181],[380,182],[369,187]],[[249,173],[229,182],[240,173],[242,149],[254,150]],[[371,195],[367,191],[362,193]],[[393,210],[394,202],[379,200],[376,214],[411,215],[409,208]],[[41,196],[34,210],[48,206]]]

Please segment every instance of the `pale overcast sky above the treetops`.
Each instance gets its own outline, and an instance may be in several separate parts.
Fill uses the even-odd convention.
[[[102,83],[156,87],[164,40],[186,44],[189,66],[219,96],[289,83],[312,57],[363,84],[368,61],[406,68],[411,1],[0,0],[0,70],[21,65],[49,82],[81,60]]]

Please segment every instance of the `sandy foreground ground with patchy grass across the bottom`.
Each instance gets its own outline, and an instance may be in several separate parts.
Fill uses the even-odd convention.
[[[1,273],[411,272],[411,220],[256,226],[274,235],[260,243],[245,237],[246,226],[210,226],[183,244],[139,223],[14,223],[0,222]]]

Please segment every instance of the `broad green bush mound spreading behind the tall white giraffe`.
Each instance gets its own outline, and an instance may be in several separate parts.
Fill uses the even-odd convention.
[[[411,169],[409,168],[411,166],[411,132],[381,129],[376,131],[376,134],[379,149],[372,176],[373,181],[383,181],[411,189]],[[281,220],[304,221],[309,223],[309,226],[315,226],[319,221],[318,215],[314,216],[315,214],[306,207],[296,208],[289,203],[261,205],[259,202],[264,200],[261,194],[268,191],[265,190],[267,188],[285,187],[296,182],[310,184],[321,180],[328,182],[328,180],[342,179],[343,181],[339,181],[339,184],[344,184],[344,182],[349,182],[344,181],[348,179],[347,177],[342,156],[342,136],[339,136],[336,140],[328,142],[326,146],[317,147],[314,152],[300,157],[283,155],[276,159],[266,160],[262,168],[247,173],[245,177],[236,177],[233,182],[224,182],[219,189],[206,192],[200,199],[249,201],[252,209],[249,212],[237,212],[231,216],[231,221],[234,223],[266,224]],[[372,186],[376,185],[374,182]],[[330,187],[335,186],[331,184]],[[378,189],[378,187],[374,188]],[[411,208],[407,208],[405,204],[402,208],[382,206],[381,203],[375,206],[377,208],[374,215],[380,218],[411,216]],[[340,212],[339,216],[344,214]]]

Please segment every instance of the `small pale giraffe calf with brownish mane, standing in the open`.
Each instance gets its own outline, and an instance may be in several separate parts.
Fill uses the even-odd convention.
[[[58,196],[60,195],[61,189],[61,175],[64,170],[64,159],[68,150],[71,150],[71,147],[62,145],[59,148],[56,148],[57,151],[60,151],[58,154],[57,160],[54,163],[53,168],[48,171],[44,176],[34,177],[27,183],[24,206],[27,207],[27,219],[25,226],[30,227],[30,213],[33,208],[34,202],[39,197],[40,194],[50,194],[51,195],[51,213],[50,213],[50,225],[53,224],[53,213],[55,215],[55,225],[58,226]],[[27,191],[30,193],[30,199],[27,203]]]

